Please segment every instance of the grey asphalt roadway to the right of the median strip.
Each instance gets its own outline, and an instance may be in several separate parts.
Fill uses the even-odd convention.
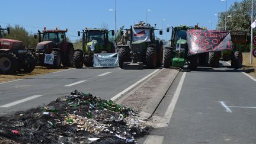
[[[140,143],[256,143],[256,81],[227,63],[180,72]]]

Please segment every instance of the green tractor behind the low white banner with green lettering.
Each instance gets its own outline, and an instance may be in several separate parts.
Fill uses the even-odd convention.
[[[111,32],[111,33],[110,33]],[[81,32],[78,31],[78,36]],[[82,49],[76,49],[73,56],[75,68],[93,66],[94,53],[114,53],[114,30],[108,31],[103,28],[93,28],[82,30]]]

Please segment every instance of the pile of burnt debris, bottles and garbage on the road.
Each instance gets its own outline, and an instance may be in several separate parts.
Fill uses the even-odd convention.
[[[0,117],[2,143],[137,143],[148,134],[131,108],[73,91],[45,107]]]

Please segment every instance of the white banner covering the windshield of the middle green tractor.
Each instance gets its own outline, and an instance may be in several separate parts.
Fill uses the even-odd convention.
[[[149,29],[134,29],[133,28],[133,41],[151,41]]]

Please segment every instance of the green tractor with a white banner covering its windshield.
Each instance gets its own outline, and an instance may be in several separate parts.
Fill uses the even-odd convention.
[[[143,65],[156,68],[162,65],[163,42],[155,38],[155,30],[158,29],[142,21],[126,29],[129,40],[126,45],[117,46],[121,69],[143,69]],[[159,34],[162,35],[162,30]]]

